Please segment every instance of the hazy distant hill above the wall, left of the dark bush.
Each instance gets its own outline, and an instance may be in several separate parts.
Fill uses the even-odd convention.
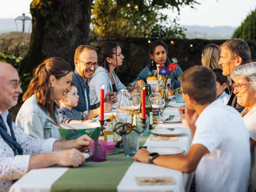
[[[186,28],[186,38],[188,39],[230,39],[236,28],[207,27],[207,26],[182,26]]]

